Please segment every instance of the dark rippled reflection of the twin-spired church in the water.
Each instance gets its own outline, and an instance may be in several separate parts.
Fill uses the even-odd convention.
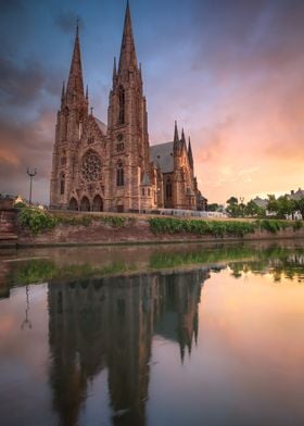
[[[199,271],[49,286],[50,381],[62,425],[77,424],[88,383],[103,368],[113,424],[145,424],[153,335],[177,341],[181,356],[191,351],[207,277]]]

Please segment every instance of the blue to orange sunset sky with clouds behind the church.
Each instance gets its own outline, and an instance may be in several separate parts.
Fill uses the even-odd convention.
[[[106,122],[126,0],[0,0],[0,192],[49,202],[56,111],[80,20],[85,84]],[[150,143],[191,137],[210,202],[304,187],[304,1],[130,0]]]

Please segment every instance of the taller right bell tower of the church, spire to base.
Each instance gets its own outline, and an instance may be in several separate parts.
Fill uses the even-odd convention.
[[[130,8],[127,3],[118,67],[114,60],[107,129],[110,147],[110,210],[141,209],[140,185],[150,173],[147,101],[138,66]]]

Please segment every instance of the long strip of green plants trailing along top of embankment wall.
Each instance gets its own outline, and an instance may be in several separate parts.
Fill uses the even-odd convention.
[[[303,221],[289,222],[280,220],[193,220],[160,217],[125,214],[94,214],[73,212],[48,212],[38,209],[23,208],[18,212],[17,222],[20,227],[27,229],[33,236],[43,234],[59,225],[90,226],[100,223],[113,229],[136,227],[138,221],[149,225],[154,235],[182,235],[207,236],[214,238],[243,238],[258,231],[277,234],[291,229],[299,230],[303,227]]]

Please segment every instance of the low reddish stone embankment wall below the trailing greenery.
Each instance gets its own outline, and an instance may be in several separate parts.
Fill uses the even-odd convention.
[[[30,235],[25,229],[18,231],[20,245],[99,245],[99,243],[140,243],[140,242],[174,242],[174,241],[226,241],[226,240],[258,240],[280,238],[303,238],[304,227],[293,230],[291,227],[279,230],[276,234],[266,230],[256,230],[248,234],[244,238],[216,238],[213,236],[180,234],[154,234],[145,220],[127,223],[122,227],[113,227],[110,224],[92,222],[88,226],[60,224],[52,230]]]

